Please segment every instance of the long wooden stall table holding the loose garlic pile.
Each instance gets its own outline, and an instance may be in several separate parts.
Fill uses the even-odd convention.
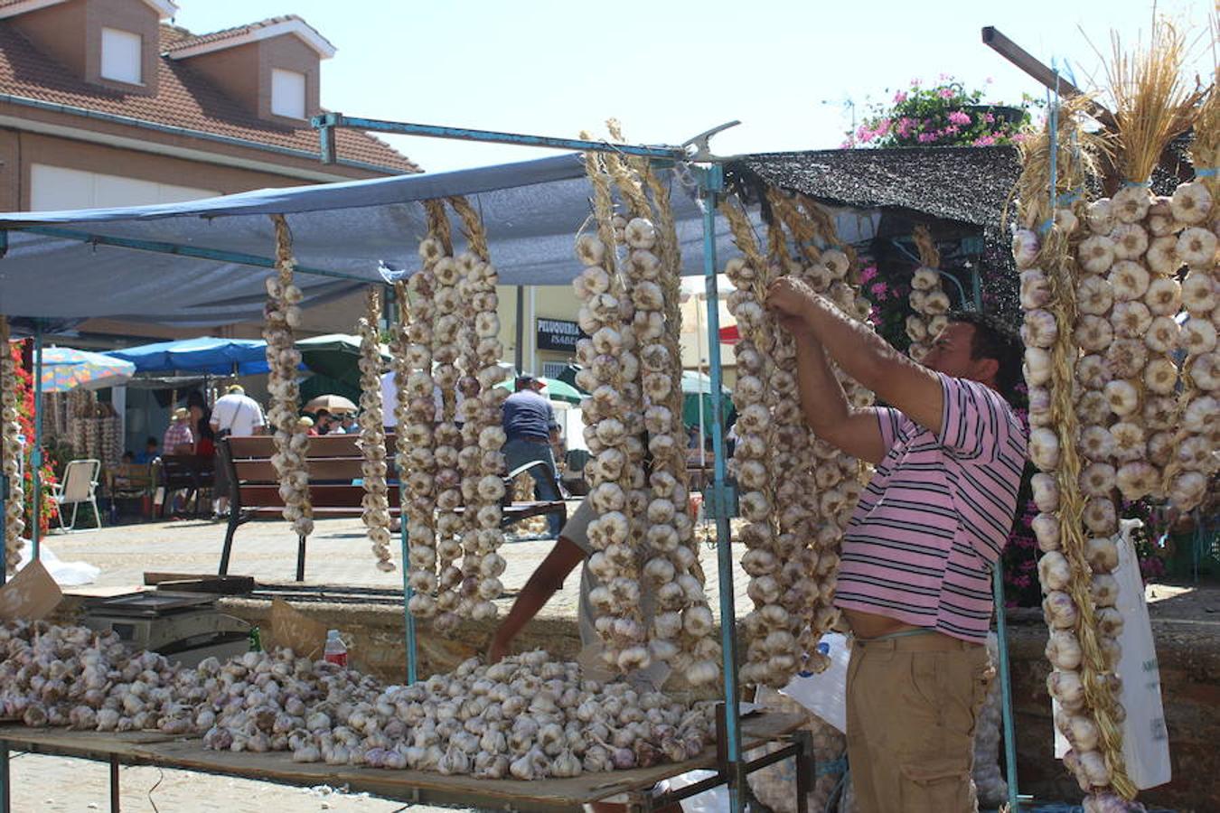
[[[799,733],[803,718],[795,714],[764,712],[742,719],[743,751]],[[445,776],[436,772],[384,770],[355,765],[328,765],[322,762],[299,763],[288,752],[250,753],[209,751],[198,737],[176,737],[157,731],[71,731],[67,729],[32,729],[22,725],[0,726],[0,747],[63,757],[79,757],[110,763],[110,809],[118,812],[118,765],[159,765],[207,774],[242,776],[282,785],[312,787],[348,786],[353,792],[403,802],[466,804],[501,811],[580,811],[583,804],[616,793],[628,793],[636,811],[647,811],[662,800],[651,800],[650,789],[659,781],[689,770],[719,770],[716,748],[709,747],[694,759],[666,763],[653,768],[582,774],[571,779],[475,779]],[[786,750],[752,763],[762,768],[780,759],[797,759],[797,781],[800,791],[809,787],[813,770],[806,764],[810,748],[805,737],[797,736]],[[752,767],[747,765],[745,770]],[[699,783],[680,793],[693,795],[708,786],[723,784],[723,772],[712,785]],[[800,792],[798,800],[804,801]],[[670,796],[664,801],[675,801]],[[221,800],[217,800],[220,803]],[[804,809],[803,804],[799,809]],[[7,809],[4,813],[9,813]]]

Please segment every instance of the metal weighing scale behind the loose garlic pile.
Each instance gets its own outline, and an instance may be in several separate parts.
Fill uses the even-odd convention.
[[[250,624],[217,611],[216,596],[198,592],[156,590],[100,598],[87,606],[82,623],[184,667],[212,656],[224,661],[250,648]]]

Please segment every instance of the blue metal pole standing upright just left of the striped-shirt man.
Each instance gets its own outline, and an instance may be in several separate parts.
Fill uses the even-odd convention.
[[[703,277],[708,297],[708,358],[711,362],[711,451],[712,485],[710,508],[716,518],[716,564],[720,574],[720,647],[725,670],[725,739],[731,811],[744,809],[742,783],[741,709],[737,703],[737,608],[733,601],[732,530],[728,525],[730,499],[725,488],[725,423],[720,399],[720,304],[716,293],[716,194],[725,188],[720,165],[702,168],[697,177],[703,199]]]

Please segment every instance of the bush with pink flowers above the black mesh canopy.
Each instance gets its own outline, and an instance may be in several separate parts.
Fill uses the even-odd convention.
[[[843,146],[992,146],[1022,140],[1037,102],[1024,96],[1013,107],[987,105],[982,98],[982,90],[966,90],[947,74],[936,85],[913,79],[891,102],[870,105],[869,117],[847,134]]]

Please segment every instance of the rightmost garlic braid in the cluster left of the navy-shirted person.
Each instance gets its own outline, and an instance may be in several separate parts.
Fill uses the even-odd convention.
[[[500,319],[495,285],[499,274],[490,264],[487,232],[478,213],[465,197],[450,197],[449,204],[462,222],[470,251],[458,258],[462,277],[458,284],[464,307],[471,314],[461,341],[461,378],[458,382],[466,425],[464,440],[473,441],[479,453],[466,455],[462,468],[462,497],[466,501],[466,530],[462,535],[462,584],[459,614],[471,618],[495,618],[493,600],[504,591],[499,577],[506,562],[497,551],[504,544],[501,529],[505,496],[501,473],[506,468],[503,430],[504,399],[509,391],[497,386],[503,375],[500,356]]]

